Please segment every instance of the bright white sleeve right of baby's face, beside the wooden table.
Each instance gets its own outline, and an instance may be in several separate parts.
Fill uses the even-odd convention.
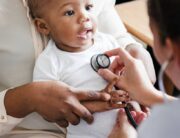
[[[115,0],[106,0],[104,7],[98,15],[98,29],[100,32],[109,33],[115,37],[121,47],[127,45],[141,45],[127,32],[115,8]]]

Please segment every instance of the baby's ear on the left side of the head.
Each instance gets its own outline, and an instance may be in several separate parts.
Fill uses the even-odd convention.
[[[40,18],[35,18],[34,23],[39,33],[46,36],[49,35],[50,29],[45,20]]]

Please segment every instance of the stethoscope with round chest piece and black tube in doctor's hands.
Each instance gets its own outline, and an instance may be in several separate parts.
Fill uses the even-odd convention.
[[[110,61],[109,57],[106,54],[97,54],[97,55],[92,56],[92,58],[91,58],[91,67],[96,72],[99,69],[108,68],[110,66],[110,64],[111,64],[111,61]],[[137,128],[138,125],[135,122],[134,118],[132,117],[128,106],[124,107],[124,109],[125,109],[126,115],[127,115],[128,119],[129,119],[130,123],[132,124],[132,126],[134,128]]]

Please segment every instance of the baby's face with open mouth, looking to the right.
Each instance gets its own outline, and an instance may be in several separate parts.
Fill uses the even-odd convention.
[[[91,0],[52,0],[43,19],[49,35],[65,51],[82,51],[93,44],[96,30]]]

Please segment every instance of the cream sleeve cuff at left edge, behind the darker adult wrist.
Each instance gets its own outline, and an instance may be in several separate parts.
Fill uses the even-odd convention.
[[[22,121],[22,118],[14,118],[6,114],[4,105],[4,97],[7,90],[0,92],[0,136],[9,133],[17,124]]]

